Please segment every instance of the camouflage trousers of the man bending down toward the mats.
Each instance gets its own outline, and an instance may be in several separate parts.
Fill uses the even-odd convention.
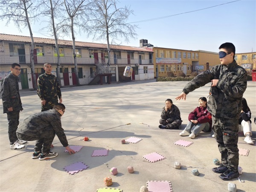
[[[36,136],[30,136],[26,135],[26,133],[21,134],[17,133],[17,137],[20,140],[26,140],[26,141],[35,141],[35,151],[42,151],[42,153],[48,153],[51,149],[52,141],[55,137],[55,131],[52,128],[52,125],[49,125],[48,127],[44,128],[43,131],[41,131],[41,134],[38,134]]]

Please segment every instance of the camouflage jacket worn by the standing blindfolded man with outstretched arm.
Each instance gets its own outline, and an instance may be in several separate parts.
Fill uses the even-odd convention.
[[[216,117],[239,119],[241,99],[247,87],[247,72],[235,60],[227,66],[216,65],[196,76],[184,87],[183,92],[188,94],[212,79],[219,81],[215,87],[210,88],[208,111]]]

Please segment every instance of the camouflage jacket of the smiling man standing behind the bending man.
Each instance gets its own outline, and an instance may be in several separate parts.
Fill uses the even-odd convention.
[[[41,100],[58,101],[58,98],[61,98],[61,87],[55,75],[44,73],[39,76],[37,93]]]

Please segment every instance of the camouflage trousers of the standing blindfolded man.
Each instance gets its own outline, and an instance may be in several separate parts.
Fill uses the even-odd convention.
[[[238,170],[239,150],[238,119],[225,119],[212,116],[212,128],[218,149],[221,153],[221,163],[234,171]]]

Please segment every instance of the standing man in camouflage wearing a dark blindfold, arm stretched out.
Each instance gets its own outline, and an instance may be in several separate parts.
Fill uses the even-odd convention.
[[[186,100],[189,92],[212,82],[207,109],[212,113],[212,128],[221,153],[221,165],[212,171],[220,173],[222,180],[231,180],[239,177],[239,114],[247,87],[247,73],[234,60],[236,49],[232,43],[224,43],[219,49],[221,65],[196,76],[175,99]]]

